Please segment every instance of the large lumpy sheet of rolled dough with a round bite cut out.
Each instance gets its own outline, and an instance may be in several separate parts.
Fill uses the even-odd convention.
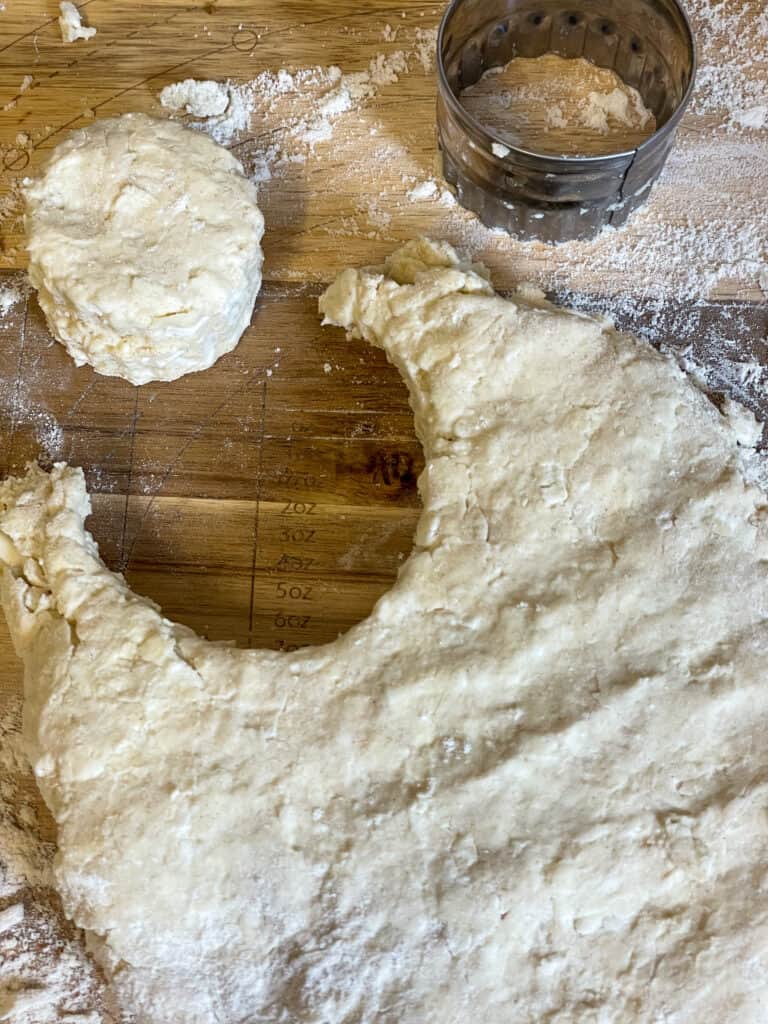
[[[342,273],[425,449],[370,618],[226,649],[100,562],[80,471],[0,490],[69,913],[146,1024],[759,1024],[758,428],[426,242]],[[181,1012],[180,1008],[183,1008]]]

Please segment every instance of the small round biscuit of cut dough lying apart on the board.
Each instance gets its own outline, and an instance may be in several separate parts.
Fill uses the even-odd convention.
[[[238,344],[264,218],[207,135],[143,114],[98,121],[56,147],[26,199],[30,280],[78,366],[169,381]]]

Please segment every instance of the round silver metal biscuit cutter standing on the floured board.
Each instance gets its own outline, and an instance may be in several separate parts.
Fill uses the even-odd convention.
[[[461,93],[514,57],[585,57],[634,86],[656,118],[635,150],[552,156],[483,127]],[[437,131],[446,181],[488,227],[521,239],[590,239],[641,206],[693,91],[696,48],[676,0],[453,0],[437,39]]]

